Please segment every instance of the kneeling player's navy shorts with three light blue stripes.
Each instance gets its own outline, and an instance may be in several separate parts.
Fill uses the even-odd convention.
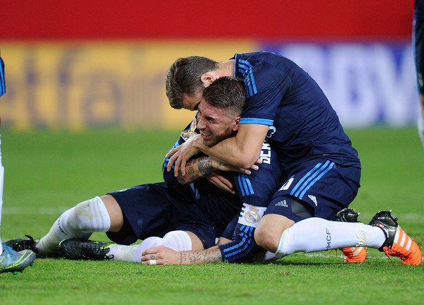
[[[288,172],[264,215],[283,215],[294,222],[307,217],[333,220],[351,204],[359,187],[358,167],[341,167],[325,159],[302,162]]]

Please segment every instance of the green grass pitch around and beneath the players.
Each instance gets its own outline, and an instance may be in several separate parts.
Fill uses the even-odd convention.
[[[424,150],[415,128],[348,130],[363,164],[351,207],[368,222],[393,210],[424,244]],[[44,235],[67,208],[108,191],[161,181],[179,132],[98,129],[1,134],[5,167],[1,238]],[[95,239],[106,240],[105,234]],[[296,253],[269,264],[145,266],[37,258],[0,274],[1,304],[423,304],[424,267],[371,249],[365,263],[341,253]]]

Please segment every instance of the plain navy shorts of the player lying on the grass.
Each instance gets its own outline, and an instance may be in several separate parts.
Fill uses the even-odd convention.
[[[165,182],[142,184],[110,193],[124,215],[119,232],[107,232],[117,244],[133,244],[137,239],[163,237],[174,230],[196,234],[204,249],[215,245],[216,232],[210,217],[190,196],[179,196],[167,188]]]

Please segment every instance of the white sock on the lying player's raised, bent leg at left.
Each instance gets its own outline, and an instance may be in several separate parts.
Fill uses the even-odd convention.
[[[109,229],[110,216],[105,203],[100,197],[95,197],[62,213],[36,246],[43,256],[57,256],[60,241],[88,238],[93,232],[107,232]]]

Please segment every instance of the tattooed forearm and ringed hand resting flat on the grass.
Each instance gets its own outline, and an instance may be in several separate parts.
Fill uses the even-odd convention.
[[[218,246],[197,251],[174,251],[165,246],[157,246],[143,251],[141,261],[145,265],[152,265],[152,258],[156,265],[191,265],[196,263],[218,263],[223,258]]]

